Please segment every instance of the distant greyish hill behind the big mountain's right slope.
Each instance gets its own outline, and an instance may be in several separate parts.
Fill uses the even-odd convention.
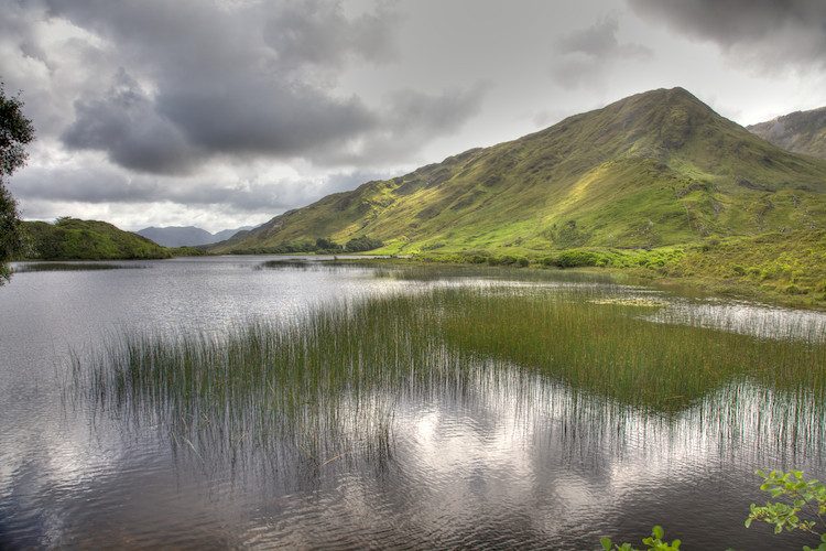
[[[795,111],[746,129],[789,151],[826,159],[826,107]]]

